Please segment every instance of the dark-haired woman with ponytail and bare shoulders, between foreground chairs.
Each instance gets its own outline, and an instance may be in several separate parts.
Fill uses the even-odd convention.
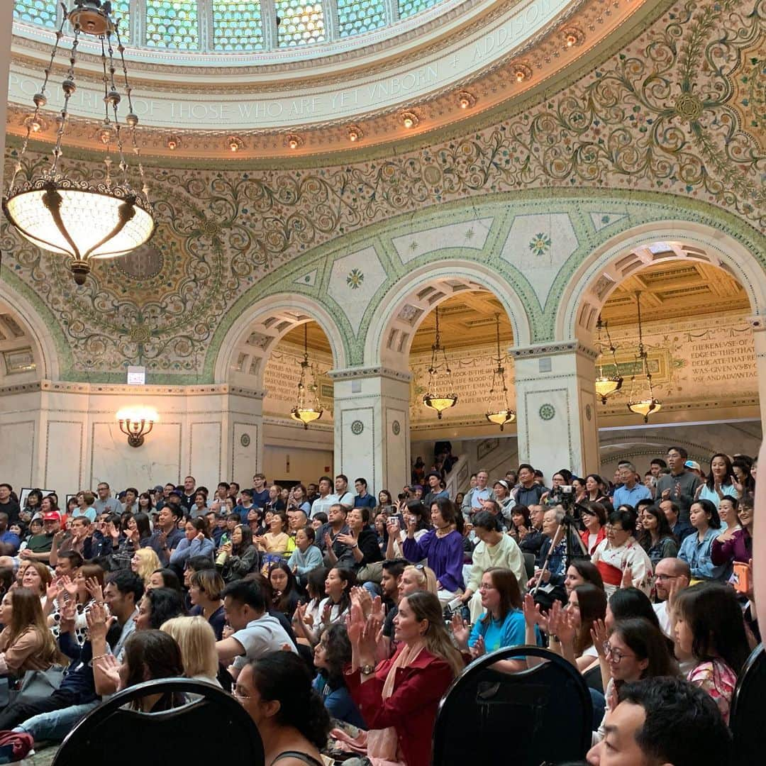
[[[330,717],[311,682],[292,652],[270,652],[237,676],[234,696],[256,723],[270,766],[322,766]]]

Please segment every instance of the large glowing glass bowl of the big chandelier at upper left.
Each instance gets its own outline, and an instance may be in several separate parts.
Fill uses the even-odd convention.
[[[151,208],[129,188],[38,178],[3,200],[8,221],[32,244],[71,259],[77,284],[91,258],[124,255],[155,230]]]

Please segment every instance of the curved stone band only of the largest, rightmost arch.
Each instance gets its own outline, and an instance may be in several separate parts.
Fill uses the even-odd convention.
[[[650,246],[658,242],[670,250],[653,252]],[[583,260],[561,295],[555,339],[589,342],[614,289],[630,274],[669,260],[698,260],[725,270],[745,289],[752,313],[766,314],[766,273],[747,247],[708,224],[656,221],[612,237]]]

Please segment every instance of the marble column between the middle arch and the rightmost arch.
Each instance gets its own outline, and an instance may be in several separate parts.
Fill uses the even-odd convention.
[[[551,476],[597,473],[594,349],[580,342],[510,349],[514,362],[519,462]]]

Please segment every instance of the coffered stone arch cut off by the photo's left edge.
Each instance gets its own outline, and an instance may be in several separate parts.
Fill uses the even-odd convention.
[[[9,316],[11,322],[3,322],[2,315]],[[21,335],[18,330],[21,330]],[[20,347],[31,348],[34,358],[34,372],[9,377],[6,377],[5,362],[0,363],[0,380],[15,384],[59,379],[59,360],[51,327],[34,305],[24,295],[13,290],[5,279],[0,280],[0,332],[3,337],[17,339]]]

